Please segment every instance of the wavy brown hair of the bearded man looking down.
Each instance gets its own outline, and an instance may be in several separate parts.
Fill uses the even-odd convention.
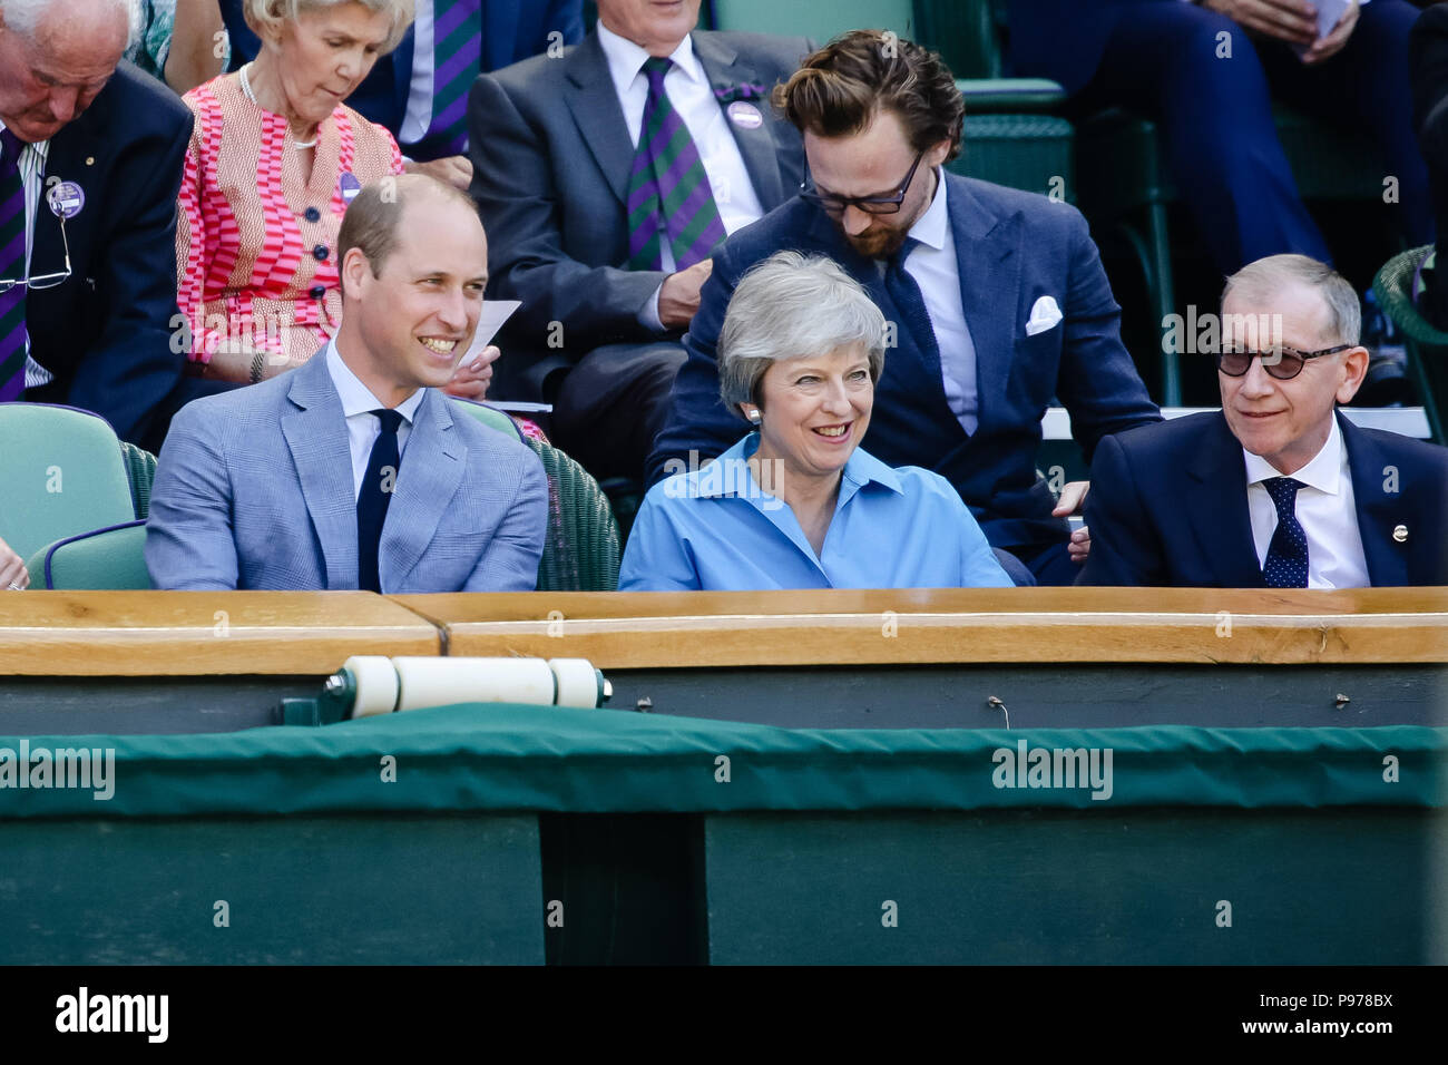
[[[966,101],[938,54],[882,29],[854,29],[804,61],[775,88],[779,107],[801,133],[849,136],[882,109],[904,123],[915,151],[950,141],[960,154]]]

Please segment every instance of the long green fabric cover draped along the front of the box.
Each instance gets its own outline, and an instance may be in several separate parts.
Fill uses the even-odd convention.
[[[1441,807],[1448,729],[778,729],[460,704],[323,727],[30,738],[113,748],[114,794],[0,787],[0,819],[392,810],[738,811]],[[998,787],[998,751],[1112,752],[1112,788]],[[19,752],[20,740],[0,738]],[[397,781],[378,787],[382,755]],[[728,758],[728,782],[718,759]],[[1396,759],[1394,782],[1384,759]],[[12,762],[16,755],[10,755]],[[3,778],[0,778],[3,780]]]

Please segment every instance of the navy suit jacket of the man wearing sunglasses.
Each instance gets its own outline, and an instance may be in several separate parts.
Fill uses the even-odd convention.
[[[1448,448],[1358,429],[1341,413],[1338,425],[1373,587],[1448,584]],[[1077,584],[1267,587],[1242,445],[1221,412],[1102,440],[1086,525],[1090,556]]]

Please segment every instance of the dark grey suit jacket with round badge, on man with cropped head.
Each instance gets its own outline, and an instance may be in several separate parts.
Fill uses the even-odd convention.
[[[769,213],[798,191],[804,146],[767,94],[812,45],[708,30],[692,41],[720,107],[727,112],[747,96],[765,119],[753,129],[728,128]],[[666,275],[626,267],[634,145],[598,35],[562,58],[539,55],[481,75],[468,101],[468,132],[471,191],[488,230],[489,294],[523,301],[498,341],[504,358],[494,365],[491,391],[536,398],[549,371],[598,345],[663,336],[639,313]]]

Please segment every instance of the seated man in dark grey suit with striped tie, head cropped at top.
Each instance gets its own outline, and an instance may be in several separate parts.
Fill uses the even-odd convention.
[[[484,74],[468,104],[494,294],[523,301],[489,396],[552,403],[555,442],[597,477],[640,477],[714,246],[802,178],[769,91],[811,43],[698,13],[599,0],[581,45]]]

